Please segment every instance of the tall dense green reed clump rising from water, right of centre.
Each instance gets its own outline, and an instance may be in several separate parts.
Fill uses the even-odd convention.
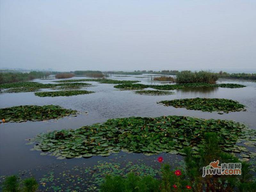
[[[218,80],[216,73],[210,71],[181,71],[176,75],[176,83],[210,83],[214,84]]]

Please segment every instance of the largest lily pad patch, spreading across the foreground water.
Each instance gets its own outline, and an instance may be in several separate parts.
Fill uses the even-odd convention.
[[[120,150],[145,155],[168,152],[184,155],[183,148],[191,146],[198,154],[204,146],[204,133],[218,132],[220,148],[240,152],[235,147],[237,139],[256,146],[256,131],[244,124],[230,120],[199,119],[186,116],[161,116],[156,118],[129,117],[109,119],[103,124],[93,124],[79,129],[53,131],[37,135],[33,150],[52,152],[64,157],[109,156]]]

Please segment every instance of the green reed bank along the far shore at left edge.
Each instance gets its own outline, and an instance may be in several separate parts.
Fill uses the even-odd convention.
[[[0,84],[20,82],[20,81],[29,81],[36,78],[45,78],[49,76],[50,72],[37,72],[31,71],[29,73],[20,73],[20,72],[1,72],[0,73]]]

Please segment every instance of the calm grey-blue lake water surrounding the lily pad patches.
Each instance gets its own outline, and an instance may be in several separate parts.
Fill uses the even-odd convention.
[[[150,74],[148,74],[150,75]],[[142,84],[161,84],[160,82],[151,81],[151,77],[136,78],[143,75],[129,75],[129,77],[109,78],[117,80],[138,80]],[[85,77],[74,77],[74,79]],[[34,81],[41,83],[53,83],[54,80]],[[142,116],[157,117],[168,115],[192,116],[199,118],[230,119],[243,122],[250,128],[256,129],[256,83],[249,81],[236,81],[221,79],[218,83],[237,83],[243,84],[244,88],[198,88],[198,89],[180,89],[173,90],[175,94],[164,96],[147,96],[135,94],[133,91],[121,91],[115,89],[114,84],[100,84],[98,82],[89,82],[93,84],[84,89],[94,91],[95,93],[86,95],[77,95],[71,97],[36,97],[33,92],[26,93],[2,93],[0,95],[1,108],[18,106],[18,105],[60,105],[63,108],[76,109],[82,112],[77,117],[64,117],[59,120],[24,122],[24,123],[5,123],[0,124],[0,176],[6,174],[15,174],[19,170],[30,169],[35,174],[36,168],[50,167],[56,164],[63,164],[72,167],[75,165],[92,166],[97,161],[108,161],[115,158],[111,155],[108,157],[93,156],[89,159],[66,159],[57,160],[52,156],[41,156],[38,151],[30,151],[31,145],[25,145],[25,139],[32,138],[41,132],[48,132],[60,129],[76,129],[84,125],[105,122],[109,118]],[[247,111],[231,112],[220,115],[217,112],[202,112],[187,110],[185,108],[165,107],[157,104],[160,100],[172,100],[180,98],[226,98],[237,100],[246,106]],[[84,112],[88,112],[85,114]],[[153,161],[156,156],[145,156],[143,154],[125,154],[121,152],[120,156],[125,159],[145,159]],[[168,156],[170,156],[168,154]],[[179,157],[180,158],[180,157]],[[123,158],[124,159],[124,158]],[[120,160],[121,161],[121,160]]]

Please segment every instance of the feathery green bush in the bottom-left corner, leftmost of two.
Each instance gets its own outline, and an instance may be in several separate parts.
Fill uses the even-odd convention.
[[[20,184],[19,178],[16,175],[7,177],[2,185],[3,192],[19,192]]]

